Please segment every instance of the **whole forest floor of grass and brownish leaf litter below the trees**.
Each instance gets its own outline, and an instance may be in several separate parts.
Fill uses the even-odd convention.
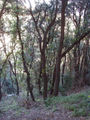
[[[0,110],[0,120],[90,120],[90,88],[45,103],[42,98],[27,103],[24,96],[6,96]]]

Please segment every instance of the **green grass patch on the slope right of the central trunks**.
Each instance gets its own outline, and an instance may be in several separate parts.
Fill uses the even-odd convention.
[[[51,97],[45,101],[46,107],[59,103],[72,111],[73,116],[90,116],[90,91],[70,96]]]

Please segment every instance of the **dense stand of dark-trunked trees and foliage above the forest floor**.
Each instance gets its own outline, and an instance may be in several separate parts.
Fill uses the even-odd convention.
[[[0,99],[90,85],[90,1],[25,2],[0,0]]]

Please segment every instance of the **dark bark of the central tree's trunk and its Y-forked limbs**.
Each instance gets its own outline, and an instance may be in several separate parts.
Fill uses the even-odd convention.
[[[47,26],[46,30],[43,31],[43,37],[41,36],[41,32],[40,30],[42,31],[42,27],[38,27],[38,23],[37,21],[35,20],[35,17],[32,13],[32,10],[30,10],[30,14],[32,16],[32,19],[35,23],[35,28],[36,28],[36,31],[38,33],[38,36],[39,36],[39,49],[40,49],[40,53],[41,53],[41,64],[42,64],[42,80],[43,80],[43,83],[44,83],[44,86],[43,86],[43,98],[46,99],[47,98],[47,87],[48,87],[48,81],[47,81],[47,75],[46,75],[46,56],[45,56],[45,51],[46,51],[46,48],[47,48],[47,44],[49,43],[49,41],[47,40],[47,36],[48,36],[48,32],[51,30],[52,26],[55,24],[55,20],[56,20],[56,16],[57,16],[57,6],[58,6],[58,0],[56,0],[56,9],[55,9],[55,15],[54,15],[54,18],[52,18],[50,24]],[[42,18],[41,20],[41,24],[43,23],[43,20],[45,19],[46,17],[46,14],[45,16]],[[42,42],[42,46],[41,46],[41,42]]]

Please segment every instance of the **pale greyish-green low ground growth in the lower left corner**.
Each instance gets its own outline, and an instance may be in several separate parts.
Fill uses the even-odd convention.
[[[25,96],[23,96],[23,99],[25,99]],[[4,97],[3,100],[0,102],[0,116],[5,113],[8,115],[8,111],[12,111],[13,116],[16,117],[19,117],[22,113],[27,114],[28,111],[26,110],[26,108],[19,106],[18,100],[21,100],[21,98],[17,96]],[[12,114],[8,115],[8,117],[11,117]]]

